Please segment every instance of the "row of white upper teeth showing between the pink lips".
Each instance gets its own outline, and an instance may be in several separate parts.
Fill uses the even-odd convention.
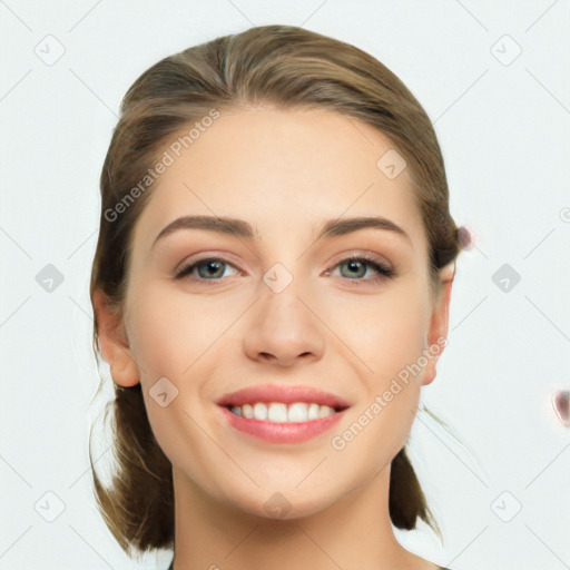
[[[311,420],[327,417],[336,413],[328,405],[318,405],[316,403],[295,402],[294,404],[272,402],[256,402],[255,404],[244,404],[242,406],[232,406],[230,411],[236,415],[242,415],[248,420],[268,420],[275,423],[298,423]]]

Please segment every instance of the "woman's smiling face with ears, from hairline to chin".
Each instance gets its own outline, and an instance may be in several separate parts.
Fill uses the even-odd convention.
[[[409,169],[331,111],[225,110],[165,150],[134,232],[128,341],[101,338],[112,377],[140,381],[175,481],[262,517],[321,511],[390,464],[443,350],[449,289],[432,296]]]

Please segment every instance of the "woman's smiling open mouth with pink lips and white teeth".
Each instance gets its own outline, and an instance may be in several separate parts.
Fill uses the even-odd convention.
[[[235,430],[271,443],[299,443],[330,430],[350,404],[308,386],[244,389],[217,402]]]

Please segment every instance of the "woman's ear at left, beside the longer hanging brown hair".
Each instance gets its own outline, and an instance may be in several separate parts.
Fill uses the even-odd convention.
[[[126,387],[135,386],[140,382],[140,376],[122,317],[109,306],[107,296],[100,289],[94,293],[94,311],[97,315],[101,356],[109,364],[114,382]]]

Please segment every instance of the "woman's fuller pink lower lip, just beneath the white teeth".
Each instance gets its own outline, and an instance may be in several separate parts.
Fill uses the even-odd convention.
[[[229,425],[236,430],[271,443],[301,443],[311,440],[333,428],[346,410],[309,422],[277,423],[268,420],[249,420],[220,406]]]

